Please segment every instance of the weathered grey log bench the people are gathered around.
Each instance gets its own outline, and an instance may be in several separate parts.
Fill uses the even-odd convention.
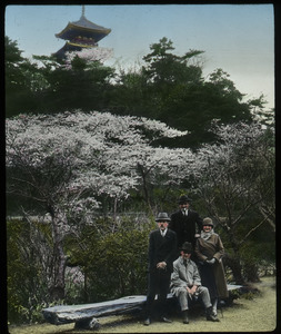
[[[239,291],[242,285],[228,285],[228,291]],[[157,297],[155,297],[157,298]],[[168,299],[174,301],[172,294]],[[122,315],[143,311],[147,296],[134,295],[123,298],[81,305],[57,305],[42,310],[43,317],[53,325],[76,323],[76,328],[96,330],[100,324],[98,317]]]

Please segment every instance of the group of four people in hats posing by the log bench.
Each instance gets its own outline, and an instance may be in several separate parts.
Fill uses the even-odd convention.
[[[224,254],[220,236],[213,230],[213,222],[190,209],[191,198],[179,198],[179,210],[169,218],[159,213],[158,229],[149,236],[149,284],[144,325],[151,324],[158,295],[160,321],[171,323],[167,314],[167,295],[177,296],[184,324],[189,323],[192,301],[201,299],[207,321],[219,322],[219,298],[228,297],[222,265]]]

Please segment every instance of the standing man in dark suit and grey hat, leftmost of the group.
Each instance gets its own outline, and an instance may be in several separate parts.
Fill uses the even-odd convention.
[[[158,214],[158,229],[149,236],[149,286],[145,305],[144,325],[150,325],[152,306],[158,294],[160,321],[171,323],[165,316],[173,261],[177,257],[177,235],[168,228],[170,218],[167,213]]]

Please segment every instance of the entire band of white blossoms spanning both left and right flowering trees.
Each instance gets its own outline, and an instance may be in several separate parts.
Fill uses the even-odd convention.
[[[9,186],[52,206],[59,238],[76,232],[77,223],[90,223],[101,205],[98,198],[112,198],[116,205],[148,180],[164,187],[192,178],[200,191],[224,183],[232,194],[248,194],[251,179],[243,177],[241,161],[255,155],[259,164],[264,129],[240,122],[213,130],[218,140],[192,153],[151,145],[187,131],[147,118],[80,110],[20,115],[6,122],[7,168],[17,173]],[[237,178],[243,181],[238,185]]]

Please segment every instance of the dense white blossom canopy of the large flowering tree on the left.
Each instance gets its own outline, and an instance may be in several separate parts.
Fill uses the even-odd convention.
[[[56,116],[21,115],[8,119],[6,129],[7,166],[24,168],[30,175],[40,170],[41,187],[49,185],[52,175],[56,183],[48,191],[60,199],[56,199],[60,206],[71,204],[76,212],[82,212],[92,195],[127,198],[142,181],[138,166],[149,173],[152,183],[165,174],[172,181],[183,177],[179,166],[192,160],[188,149],[152,147],[147,129],[153,139],[185,132],[145,118],[77,110]]]

